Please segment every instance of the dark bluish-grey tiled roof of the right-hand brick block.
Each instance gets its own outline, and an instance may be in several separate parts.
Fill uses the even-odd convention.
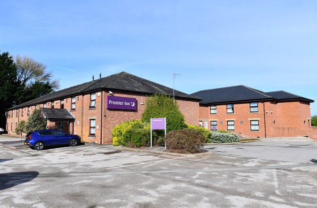
[[[314,100],[285,91],[263,92],[244,85],[201,90],[191,95],[202,98],[200,101],[201,104],[236,103],[259,100],[304,100],[314,102]]]

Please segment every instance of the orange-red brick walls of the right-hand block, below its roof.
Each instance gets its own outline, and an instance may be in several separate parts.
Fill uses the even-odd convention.
[[[265,129],[266,137],[309,135],[310,132],[310,104],[306,102],[259,102],[259,112],[256,113],[250,113],[250,103],[234,103],[233,114],[226,113],[226,104],[216,107],[217,114],[210,114],[210,106],[199,107],[200,121],[203,125],[207,121],[208,129],[211,129],[211,121],[217,121],[218,130],[227,130],[227,121],[234,121],[233,132],[246,137],[265,137]],[[259,131],[251,130],[251,120],[259,120]]]

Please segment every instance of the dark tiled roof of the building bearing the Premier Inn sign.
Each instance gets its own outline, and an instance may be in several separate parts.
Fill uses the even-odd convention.
[[[155,94],[162,93],[173,96],[173,89],[167,86],[148,81],[146,79],[134,76],[126,72],[120,72],[108,77],[101,78],[88,83],[82,83],[76,86],[65,88],[50,94],[35,98],[28,102],[22,103],[20,105],[14,106],[8,110],[14,110],[22,107],[33,106],[37,104],[42,104],[62,98],[67,98],[70,96],[90,93],[98,91],[100,89],[104,90],[113,90],[113,91],[122,91],[122,92],[131,92],[138,94]],[[200,98],[193,95],[186,94],[175,90],[175,98],[183,98],[188,100],[197,100]]]

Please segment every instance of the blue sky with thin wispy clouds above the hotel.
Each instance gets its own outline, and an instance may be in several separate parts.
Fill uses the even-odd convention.
[[[243,84],[316,100],[316,0],[1,1],[0,50],[60,89],[125,71],[193,93]]]

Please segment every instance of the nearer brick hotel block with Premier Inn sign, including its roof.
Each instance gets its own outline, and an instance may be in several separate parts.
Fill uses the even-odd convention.
[[[27,120],[36,106],[42,108],[48,128],[78,134],[83,141],[112,143],[115,125],[141,119],[148,95],[173,96],[173,89],[126,72],[62,89],[14,106],[6,112],[6,130],[14,134],[19,121]],[[199,101],[175,90],[175,100],[186,124],[197,125]],[[109,102],[107,102],[109,101]]]

